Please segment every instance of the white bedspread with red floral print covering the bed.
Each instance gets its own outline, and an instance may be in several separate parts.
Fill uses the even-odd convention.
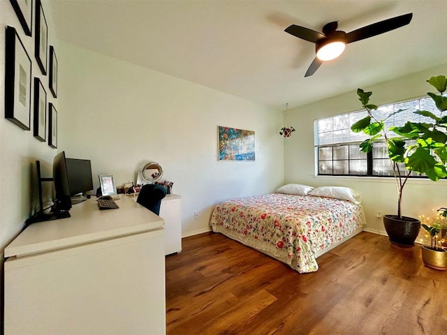
[[[217,204],[210,225],[305,273],[318,270],[318,251],[362,226],[362,214],[360,204],[346,200],[270,193]]]

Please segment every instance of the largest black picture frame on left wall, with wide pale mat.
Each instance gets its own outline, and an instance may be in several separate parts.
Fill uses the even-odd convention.
[[[31,59],[13,27],[6,27],[5,118],[25,131],[31,124]]]

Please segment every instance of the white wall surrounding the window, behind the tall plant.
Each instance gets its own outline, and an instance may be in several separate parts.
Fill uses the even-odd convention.
[[[408,98],[425,96],[434,91],[426,80],[434,75],[447,75],[447,65],[425,70],[406,77],[360,87],[372,91],[371,103],[382,105]],[[349,186],[362,192],[363,206],[367,216],[366,229],[385,233],[381,218],[383,214],[397,213],[397,188],[394,179],[361,177],[315,177],[314,120],[334,114],[361,109],[356,91],[324,101],[295,108],[289,112],[289,119],[297,132],[286,140],[284,147],[284,169],[286,182],[301,182],[313,186]],[[299,136],[295,136],[299,134]],[[404,188],[402,215],[418,217],[430,214],[447,204],[447,181],[409,180]]]

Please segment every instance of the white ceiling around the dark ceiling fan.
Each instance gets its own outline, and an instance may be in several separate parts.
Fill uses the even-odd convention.
[[[51,0],[57,38],[284,110],[447,63],[446,0]],[[284,32],[358,29],[413,13],[411,23],[347,45],[304,77],[313,43]]]

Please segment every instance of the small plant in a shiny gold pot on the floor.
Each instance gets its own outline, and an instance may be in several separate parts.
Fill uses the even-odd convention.
[[[447,251],[438,245],[438,234],[444,228],[447,212],[444,208],[438,209],[437,217],[430,225],[422,223],[422,227],[430,234],[430,246],[421,246],[422,260],[427,267],[437,270],[447,269]]]

